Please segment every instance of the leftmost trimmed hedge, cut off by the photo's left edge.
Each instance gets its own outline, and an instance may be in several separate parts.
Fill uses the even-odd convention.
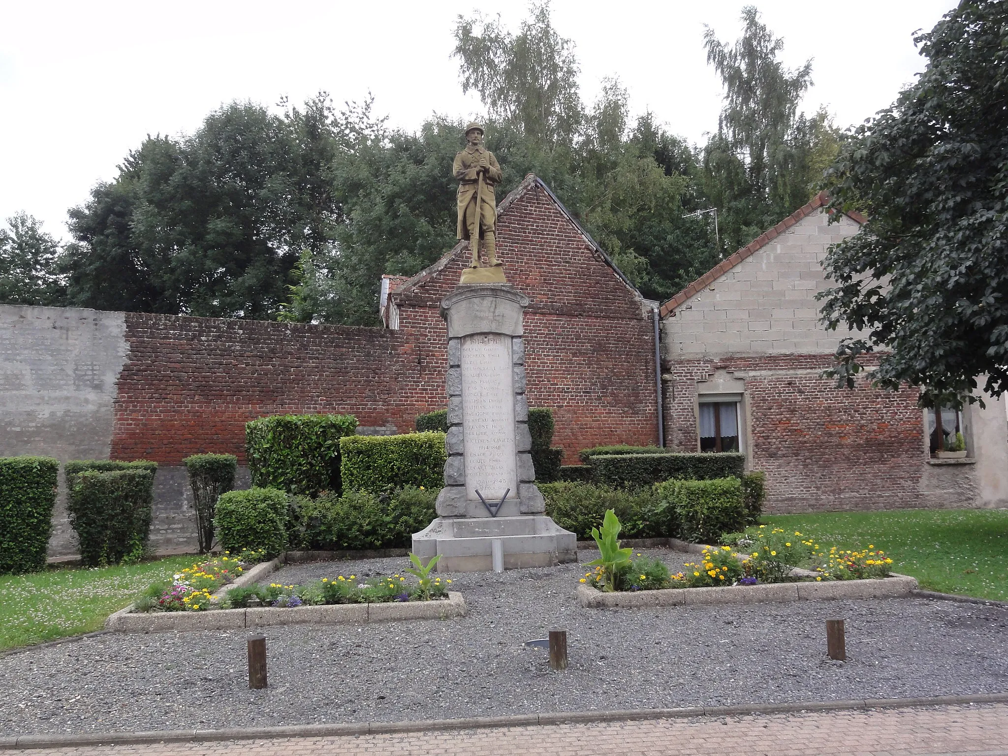
[[[59,463],[0,458],[0,574],[45,569]]]

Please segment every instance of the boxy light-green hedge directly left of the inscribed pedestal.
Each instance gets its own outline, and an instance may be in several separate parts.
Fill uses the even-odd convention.
[[[340,440],[344,491],[385,493],[403,486],[440,489],[445,433],[348,435]]]

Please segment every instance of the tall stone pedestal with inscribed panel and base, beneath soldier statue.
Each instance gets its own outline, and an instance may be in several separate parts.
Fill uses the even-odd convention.
[[[460,285],[442,302],[448,322],[448,461],[438,517],[413,534],[413,553],[435,554],[439,572],[577,561],[577,536],[545,516],[533,484],[525,398],[522,310],[528,297],[507,283]]]

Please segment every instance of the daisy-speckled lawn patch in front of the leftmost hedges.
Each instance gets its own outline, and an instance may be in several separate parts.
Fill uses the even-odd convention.
[[[193,559],[170,556],[129,566],[0,576],[0,651],[101,630],[106,617]]]

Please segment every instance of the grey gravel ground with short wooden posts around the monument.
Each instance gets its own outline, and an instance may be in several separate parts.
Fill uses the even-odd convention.
[[[690,554],[642,549],[676,570]],[[597,552],[582,551],[582,562]],[[404,557],[273,578],[392,574]],[[249,690],[245,631],[113,634],[0,658],[0,734],[401,721],[1008,690],[1008,610],[922,599],[582,609],[584,564],[453,576],[469,616],[266,628]],[[849,661],[826,658],[847,620]],[[571,666],[522,641],[565,628]]]

